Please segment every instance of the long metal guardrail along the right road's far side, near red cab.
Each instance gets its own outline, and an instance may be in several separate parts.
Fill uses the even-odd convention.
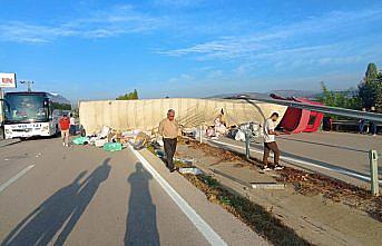
[[[293,108],[307,109],[311,111],[343,116],[343,117],[347,117],[347,118],[365,119],[365,120],[370,120],[370,121],[374,121],[374,122],[382,122],[382,114],[365,112],[365,111],[353,110],[353,109],[336,108],[336,107],[320,106],[320,105],[308,105],[308,104],[304,104],[304,102],[254,97],[251,95],[234,95],[234,96],[229,96],[229,97],[223,97],[223,99],[246,100],[248,102],[263,101],[263,102],[268,102],[268,104],[274,104],[274,105],[283,105],[283,106],[293,107]]]

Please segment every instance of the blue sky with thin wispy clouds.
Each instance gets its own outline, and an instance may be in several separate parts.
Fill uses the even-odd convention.
[[[0,71],[71,99],[355,87],[381,1],[0,0]],[[22,87],[22,86],[20,86]]]

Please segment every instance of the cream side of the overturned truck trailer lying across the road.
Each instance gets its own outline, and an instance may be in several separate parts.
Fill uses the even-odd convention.
[[[177,120],[186,127],[212,124],[222,108],[228,125],[246,121],[262,122],[273,111],[277,111],[282,117],[286,110],[284,106],[265,102],[170,98],[81,101],[79,114],[80,122],[88,134],[98,131],[102,126],[118,130],[153,130],[166,117],[169,108],[176,111]]]

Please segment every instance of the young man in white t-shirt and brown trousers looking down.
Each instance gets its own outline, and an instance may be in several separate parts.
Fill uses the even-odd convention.
[[[280,160],[280,150],[276,144],[276,136],[280,135],[280,132],[275,131],[275,122],[278,119],[278,114],[273,112],[271,118],[266,119],[263,124],[263,138],[264,138],[264,157],[263,163],[264,167],[263,170],[271,170],[268,167],[268,157],[271,150],[274,154],[274,169],[281,170],[284,167],[278,164]]]

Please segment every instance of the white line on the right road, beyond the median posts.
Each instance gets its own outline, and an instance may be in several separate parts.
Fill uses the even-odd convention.
[[[242,146],[236,146],[236,145],[227,144],[227,142],[224,142],[224,141],[217,141],[217,140],[210,140],[210,139],[206,139],[206,140],[215,142],[215,144],[225,145],[225,146],[229,146],[229,147],[233,147],[233,148],[239,148],[239,149],[244,149],[245,150],[245,147],[242,147]],[[251,149],[251,151],[263,154],[263,151],[257,150],[257,149]],[[292,157],[283,157],[282,156],[281,159],[282,160],[288,160],[288,161],[297,163],[297,164],[303,164],[303,165],[306,165],[306,166],[316,167],[316,168],[321,168],[321,169],[325,169],[325,170],[331,170],[331,171],[335,171],[335,173],[339,173],[339,174],[342,174],[342,175],[347,175],[347,176],[353,177],[353,178],[359,178],[359,179],[362,179],[364,181],[370,181],[370,177],[369,176],[364,176],[364,175],[355,174],[355,173],[352,173],[352,171],[349,171],[349,170],[344,170],[341,167],[339,167],[339,168],[324,167],[324,166],[321,166],[321,165],[317,165],[317,164],[312,164],[312,163],[308,163],[308,161],[305,161],[305,160],[295,159],[295,158],[292,158]],[[382,184],[382,180],[379,180],[379,183]]]

